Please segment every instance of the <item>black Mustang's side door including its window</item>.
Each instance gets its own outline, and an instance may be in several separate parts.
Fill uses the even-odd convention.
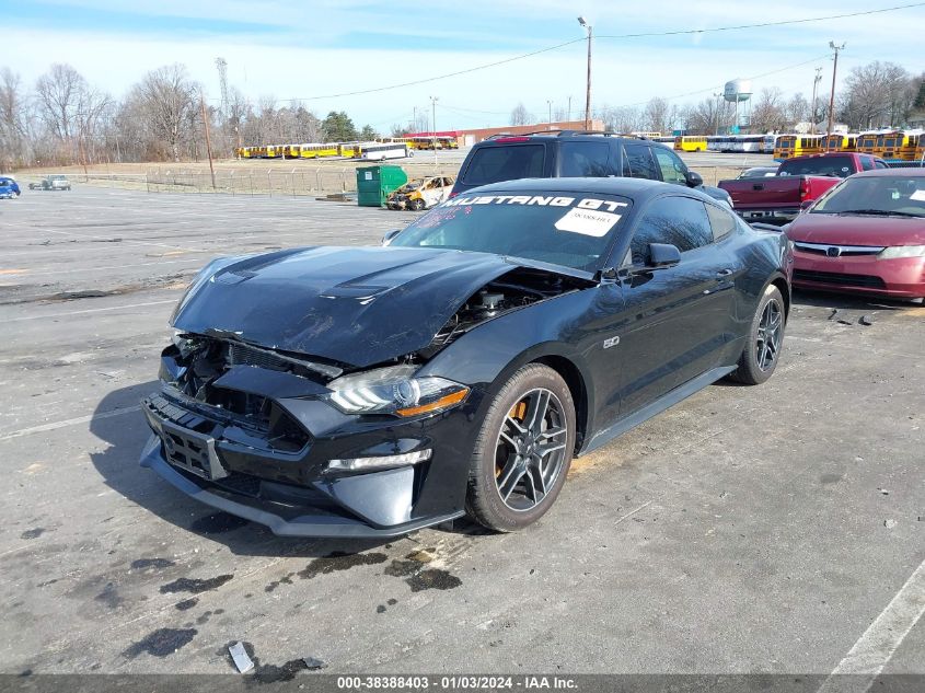
[[[681,262],[646,272],[649,243],[675,245]],[[667,195],[641,211],[622,272],[621,416],[720,365],[735,302],[731,265],[699,199]]]

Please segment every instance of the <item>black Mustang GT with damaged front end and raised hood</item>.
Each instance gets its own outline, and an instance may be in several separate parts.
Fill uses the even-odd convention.
[[[522,528],[593,450],[774,371],[786,236],[692,189],[498,183],[386,247],[212,262],[172,319],[141,464],[277,534]]]

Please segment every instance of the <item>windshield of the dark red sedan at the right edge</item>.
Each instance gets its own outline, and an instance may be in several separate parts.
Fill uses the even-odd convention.
[[[832,188],[810,210],[814,215],[925,217],[925,176],[860,176]]]

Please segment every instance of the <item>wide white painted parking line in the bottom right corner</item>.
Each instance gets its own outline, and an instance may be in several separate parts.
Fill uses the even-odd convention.
[[[818,693],[866,693],[925,613],[925,561],[864,632]]]

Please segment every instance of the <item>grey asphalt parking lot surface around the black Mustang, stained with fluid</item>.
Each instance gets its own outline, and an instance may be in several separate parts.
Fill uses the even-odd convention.
[[[137,403],[198,267],[412,218],[0,200],[0,672],[227,673],[243,640],[332,673],[925,673],[922,305],[797,294],[768,383],[714,385],[577,460],[518,534],[279,539],[138,466]]]

